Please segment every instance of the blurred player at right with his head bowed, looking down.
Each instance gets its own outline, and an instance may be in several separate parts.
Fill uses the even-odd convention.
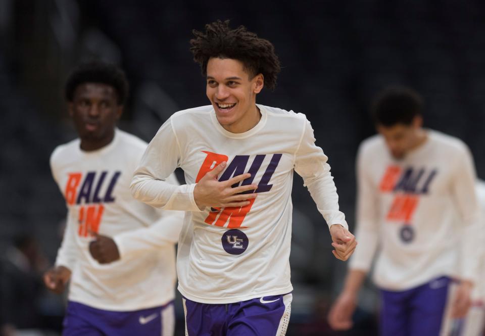
[[[461,282],[451,314],[469,308],[480,230],[473,159],[461,140],[423,128],[421,109],[419,95],[405,87],[384,90],[374,103],[379,134],[357,156],[360,245],[328,316],[334,329],[352,327],[376,250],[382,335],[439,335],[452,276]]]

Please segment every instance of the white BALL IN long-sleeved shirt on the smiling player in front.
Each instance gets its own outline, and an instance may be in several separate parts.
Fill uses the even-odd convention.
[[[293,290],[288,258],[294,170],[327,224],[347,228],[327,157],[315,146],[305,115],[257,106],[261,119],[244,133],[226,131],[212,106],[175,113],[150,142],[133,177],[138,200],[187,210],[177,273],[178,289],[189,300],[233,303]],[[242,208],[201,211],[193,199],[195,183],[222,161],[227,166],[219,181],[250,172],[242,184],[258,184],[258,197]],[[188,184],[163,181],[176,167]]]

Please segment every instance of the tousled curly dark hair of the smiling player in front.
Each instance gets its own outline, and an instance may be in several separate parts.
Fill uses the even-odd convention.
[[[274,46],[270,41],[239,26],[229,27],[229,20],[217,20],[206,25],[206,31],[192,30],[195,38],[190,40],[193,60],[199,63],[202,75],[207,75],[207,63],[210,58],[228,58],[243,63],[251,77],[264,76],[265,85],[274,89],[276,77],[281,70]]]

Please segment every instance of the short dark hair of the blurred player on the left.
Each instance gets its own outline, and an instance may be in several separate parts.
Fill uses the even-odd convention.
[[[65,85],[67,101],[72,102],[76,88],[88,82],[113,86],[118,105],[124,105],[128,98],[129,85],[123,70],[114,64],[90,61],[78,65],[68,76]]]

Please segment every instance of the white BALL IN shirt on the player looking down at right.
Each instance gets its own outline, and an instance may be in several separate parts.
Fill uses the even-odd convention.
[[[379,246],[373,278],[382,289],[407,290],[442,275],[476,282],[473,160],[459,139],[426,132],[427,140],[402,160],[391,156],[380,135],[359,149],[359,246],[350,268],[368,271]]]

